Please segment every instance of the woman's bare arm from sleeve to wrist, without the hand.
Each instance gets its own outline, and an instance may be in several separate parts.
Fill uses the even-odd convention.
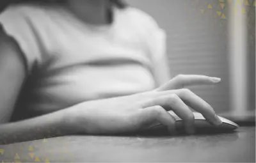
[[[26,80],[26,67],[17,43],[0,31],[0,144],[69,134],[66,110],[9,123]]]

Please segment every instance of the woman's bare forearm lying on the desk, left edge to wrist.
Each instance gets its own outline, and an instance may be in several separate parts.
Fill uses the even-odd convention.
[[[1,124],[0,144],[74,134],[68,116],[70,109],[63,109],[28,120]]]

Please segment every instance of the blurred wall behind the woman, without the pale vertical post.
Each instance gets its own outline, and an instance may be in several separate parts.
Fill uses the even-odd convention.
[[[209,102],[216,112],[229,111],[228,2],[225,0],[127,0],[127,2],[152,15],[159,26],[166,31],[167,53],[172,75],[203,74],[221,77],[222,81],[218,86],[196,86],[191,89]],[[252,3],[250,1],[250,5]],[[250,49],[253,49],[252,45]],[[250,79],[253,77],[255,79],[255,50],[251,50],[250,55],[254,55],[254,65],[250,60],[248,73]],[[250,58],[253,59],[253,56]],[[250,108],[255,109],[255,80],[254,82],[250,80],[249,100]]]

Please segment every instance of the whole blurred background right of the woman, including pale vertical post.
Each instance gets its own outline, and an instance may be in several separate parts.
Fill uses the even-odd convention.
[[[255,0],[126,0],[167,34],[172,76],[221,77],[193,87],[217,113],[255,119]]]

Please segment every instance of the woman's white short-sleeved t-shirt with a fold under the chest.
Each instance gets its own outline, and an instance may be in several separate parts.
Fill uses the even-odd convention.
[[[19,4],[4,10],[0,23],[19,44],[29,75],[19,116],[155,88],[165,35],[136,8],[113,8],[113,24],[92,26],[60,6]]]

